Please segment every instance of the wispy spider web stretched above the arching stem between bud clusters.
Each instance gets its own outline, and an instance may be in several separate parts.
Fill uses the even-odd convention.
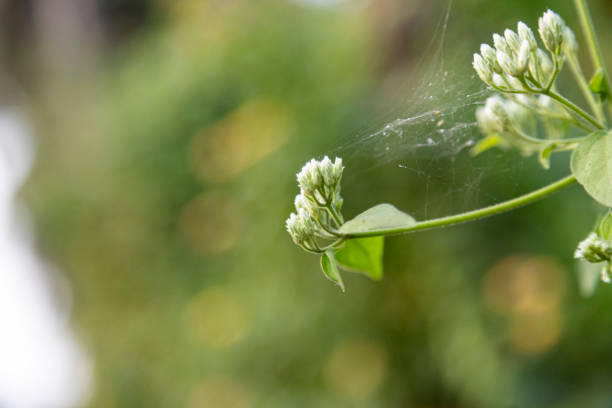
[[[470,148],[482,138],[475,110],[491,92],[471,69],[471,52],[462,49],[455,55],[446,50],[451,11],[452,1],[425,56],[406,83],[397,87],[398,94],[407,96],[398,97],[391,112],[374,121],[375,126],[357,132],[330,152],[343,157],[350,169],[345,173],[347,185],[372,171],[384,171],[404,182],[412,178],[424,199],[416,205],[408,199],[398,206],[420,219],[517,195],[524,190],[519,189],[524,171],[537,168],[526,165],[532,160],[514,152],[493,149],[476,157],[470,154]],[[493,179],[503,183],[501,197],[481,188]],[[430,194],[436,199],[429,199]]]

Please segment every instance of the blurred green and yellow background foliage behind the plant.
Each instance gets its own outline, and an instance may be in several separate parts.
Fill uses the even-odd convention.
[[[345,159],[345,217],[445,215],[565,175],[567,157],[415,149],[422,123],[388,153],[368,135],[436,103],[473,124],[476,105],[447,115],[483,89],[472,53],[548,7],[581,39],[571,1],[0,4],[4,99],[37,136],[21,197],[72,286],[88,406],[612,406],[612,288],[582,297],[571,259],[601,211],[579,187],[389,238],[384,280],[345,274],[346,293],[284,231],[295,173],[325,154]],[[590,4],[612,58],[612,5]]]

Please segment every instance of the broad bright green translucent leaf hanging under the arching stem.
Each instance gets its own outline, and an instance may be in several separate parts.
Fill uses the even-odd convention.
[[[343,269],[380,280],[383,275],[384,244],[383,237],[349,239],[336,251],[336,261]]]

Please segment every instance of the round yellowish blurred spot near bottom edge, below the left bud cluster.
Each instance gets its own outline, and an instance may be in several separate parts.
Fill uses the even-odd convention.
[[[351,399],[371,395],[380,386],[387,372],[387,353],[371,340],[348,340],[338,345],[325,367],[329,388]]]

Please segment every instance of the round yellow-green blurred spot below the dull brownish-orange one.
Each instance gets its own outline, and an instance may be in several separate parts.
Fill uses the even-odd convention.
[[[198,342],[211,348],[230,347],[250,330],[245,305],[228,289],[206,289],[185,308],[184,322]]]

